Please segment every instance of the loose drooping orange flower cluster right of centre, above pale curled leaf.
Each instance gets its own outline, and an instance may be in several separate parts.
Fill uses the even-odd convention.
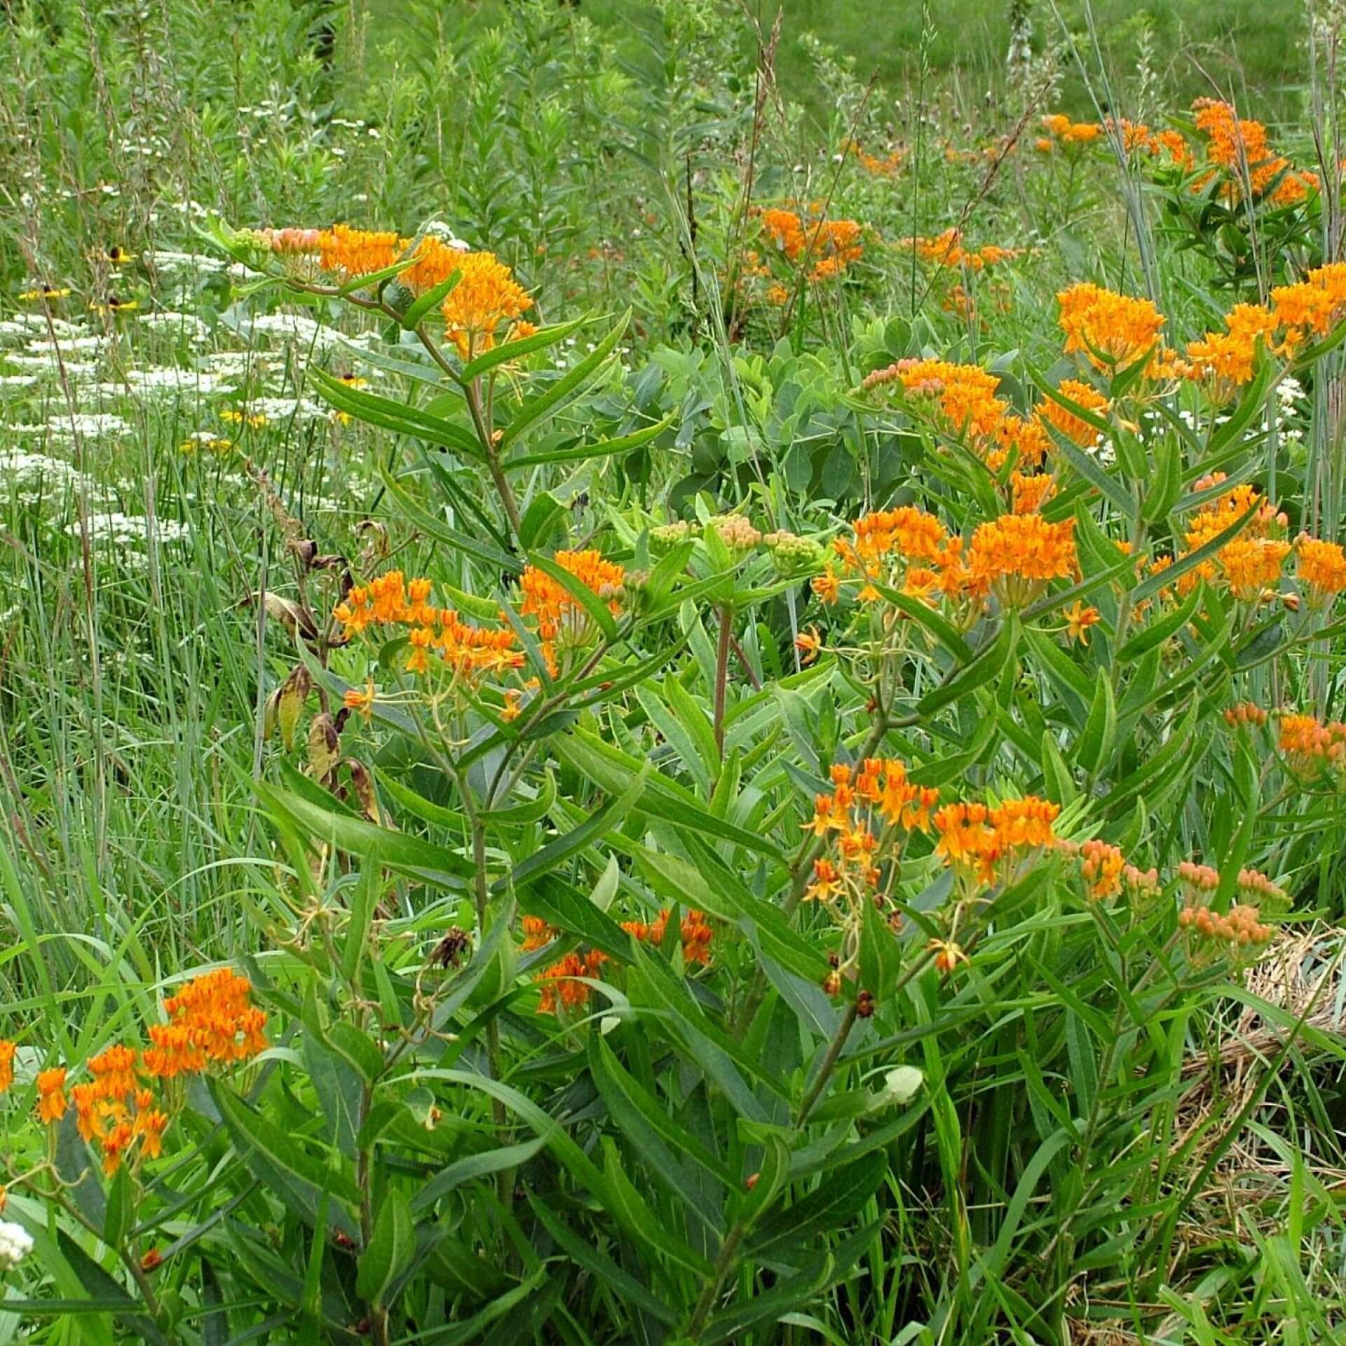
[[[844,762],[832,766],[832,793],[813,801],[805,830],[826,843],[829,853],[813,863],[810,902],[837,896],[857,899],[879,887],[884,853],[900,853],[907,833],[930,828],[930,810],[940,791],[915,785],[899,758],[865,758],[855,771]]]

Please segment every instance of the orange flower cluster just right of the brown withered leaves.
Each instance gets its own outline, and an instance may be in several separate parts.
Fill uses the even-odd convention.
[[[435,607],[428,579],[408,583],[401,571],[388,571],[367,586],[354,586],[332,615],[347,638],[370,626],[406,626],[411,653],[406,669],[429,670],[429,654],[436,653],[455,678],[472,682],[524,666],[524,653],[514,633],[506,627],[489,630],[468,626],[451,607]]]

